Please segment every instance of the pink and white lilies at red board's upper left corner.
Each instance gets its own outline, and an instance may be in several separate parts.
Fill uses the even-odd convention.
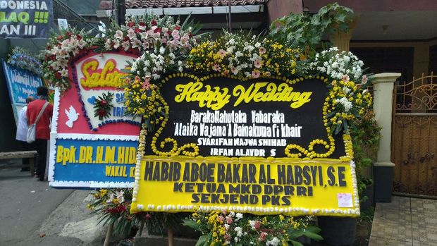
[[[82,49],[92,46],[92,39],[88,35],[84,30],[75,29],[61,30],[61,34],[51,35],[43,51],[45,59],[42,63],[44,78],[47,78],[49,85],[58,87],[61,92],[70,88],[68,61]]]

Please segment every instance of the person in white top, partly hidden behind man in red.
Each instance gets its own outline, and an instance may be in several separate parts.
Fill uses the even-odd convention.
[[[33,97],[27,97],[26,98],[26,106],[23,106],[23,109],[20,110],[20,113],[18,113],[18,123],[17,123],[17,134],[16,134],[16,140],[20,141],[21,149],[23,150],[34,150],[35,144],[28,144],[26,140],[27,135],[27,117],[26,117],[26,111],[27,111],[27,105],[30,104],[30,102],[33,102],[35,98]],[[21,164],[23,166],[29,166],[29,159],[23,158],[21,159]],[[21,171],[29,171],[30,168],[21,168]],[[32,173],[33,174],[33,173]]]

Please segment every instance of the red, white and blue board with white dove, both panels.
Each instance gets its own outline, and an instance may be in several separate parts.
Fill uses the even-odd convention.
[[[136,57],[83,50],[68,63],[70,89],[55,94],[51,186],[133,186],[140,117],[125,115],[121,77]]]

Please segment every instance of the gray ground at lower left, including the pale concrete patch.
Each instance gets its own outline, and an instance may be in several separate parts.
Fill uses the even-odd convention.
[[[0,245],[101,245],[104,228],[85,207],[88,193],[56,190],[19,168],[0,170]]]

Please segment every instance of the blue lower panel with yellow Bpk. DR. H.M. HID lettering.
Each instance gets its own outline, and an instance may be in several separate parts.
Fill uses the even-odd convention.
[[[53,182],[75,187],[96,186],[92,183],[132,184],[137,146],[137,141],[57,139],[56,156],[51,157],[56,170]]]

